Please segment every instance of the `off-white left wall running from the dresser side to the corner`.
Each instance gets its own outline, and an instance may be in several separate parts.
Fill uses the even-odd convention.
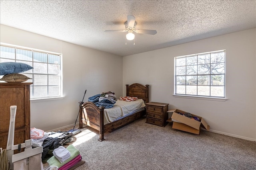
[[[122,57],[0,25],[0,41],[63,54],[61,100],[31,101],[31,127],[44,131],[74,125],[85,90],[88,97],[113,91],[122,96]],[[118,70],[118,71],[116,71]],[[79,122],[79,120],[77,121]]]

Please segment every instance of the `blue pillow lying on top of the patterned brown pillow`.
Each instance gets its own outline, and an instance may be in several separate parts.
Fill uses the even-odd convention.
[[[0,75],[21,73],[33,67],[25,63],[5,62],[0,63]]]

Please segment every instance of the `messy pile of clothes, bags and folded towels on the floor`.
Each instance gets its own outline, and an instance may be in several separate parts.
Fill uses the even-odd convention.
[[[72,170],[84,163],[78,149],[69,145],[74,141],[74,134],[65,131],[44,132],[30,128],[32,148],[42,146],[42,162],[48,162],[51,169]],[[64,145],[68,147],[64,147]],[[50,168],[49,167],[49,168]]]

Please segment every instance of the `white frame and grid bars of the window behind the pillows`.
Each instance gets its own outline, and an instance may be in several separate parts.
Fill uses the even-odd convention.
[[[32,66],[35,68],[34,66],[34,63],[38,63],[36,61],[34,61],[34,52],[38,52],[38,53],[44,53],[47,55],[47,62],[40,62],[40,63],[46,63],[47,64],[47,67],[48,67],[48,64],[52,64],[52,63],[49,63],[48,61],[48,55],[58,55],[60,57],[60,63],[59,64],[56,64],[56,65],[59,65],[60,67],[60,72],[59,74],[47,74],[46,73],[34,73],[34,69],[31,70],[28,70],[26,72],[22,72],[20,74],[24,74],[28,77],[31,77],[32,79],[29,79],[27,80],[26,82],[33,82],[33,84],[30,85],[30,100],[32,102],[42,102],[44,100],[58,100],[58,99],[61,99],[61,98],[64,98],[63,96],[63,79],[62,79],[62,54],[61,53],[54,53],[54,52],[50,52],[50,51],[44,51],[44,50],[40,50],[40,49],[33,49],[33,48],[29,48],[29,47],[22,47],[22,46],[18,46],[18,45],[12,45],[12,44],[7,44],[7,43],[0,43],[0,46],[3,46],[3,47],[10,47],[10,48],[14,48],[15,49],[15,58],[14,59],[8,59],[8,58],[4,58],[4,57],[1,57],[0,55],[0,59],[7,59],[7,60],[12,60],[12,62],[16,62],[18,60],[19,61],[26,61],[26,60],[20,60],[20,59],[17,59],[16,58],[16,53],[17,53],[17,49],[21,49],[21,50],[27,50],[27,51],[32,51],[32,61],[29,61],[29,62],[32,62]],[[34,87],[36,87],[36,85],[34,84],[34,76],[35,75],[53,75],[53,76],[59,76],[59,80],[60,80],[60,83],[58,85],[49,85],[49,81],[47,81],[47,85],[43,85],[43,86],[47,86],[47,96],[38,96],[38,97],[34,97]],[[2,77],[2,76],[1,76]],[[42,85],[38,85],[38,86],[42,86]],[[50,86],[59,86],[59,95],[57,96],[54,96],[54,95],[49,95],[49,87]]]

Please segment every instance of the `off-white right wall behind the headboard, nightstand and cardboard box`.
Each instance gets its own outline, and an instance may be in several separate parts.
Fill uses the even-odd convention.
[[[225,102],[174,97],[174,57],[226,49]],[[130,69],[134,68],[134,69]],[[210,129],[256,141],[256,29],[123,57],[125,84],[149,84],[150,102],[204,117]]]

